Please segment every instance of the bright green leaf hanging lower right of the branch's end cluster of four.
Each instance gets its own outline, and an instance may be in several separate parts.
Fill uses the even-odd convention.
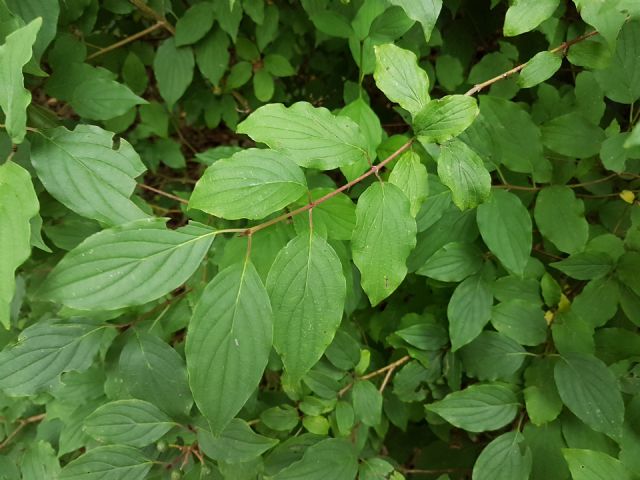
[[[491,194],[491,175],[482,159],[460,140],[442,145],[438,157],[438,176],[460,210],[474,208]]]

